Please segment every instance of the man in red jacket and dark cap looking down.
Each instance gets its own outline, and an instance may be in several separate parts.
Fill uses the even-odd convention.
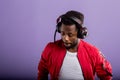
[[[84,15],[68,11],[57,19],[56,32],[61,39],[45,47],[38,65],[38,80],[100,80],[112,79],[112,68],[101,52],[83,41],[87,28]],[[56,35],[55,32],[55,35]],[[55,38],[55,37],[54,37]]]

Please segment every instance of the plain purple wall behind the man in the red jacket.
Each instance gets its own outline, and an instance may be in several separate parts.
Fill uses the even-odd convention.
[[[77,10],[85,15],[89,31],[85,40],[104,53],[118,78],[119,4],[119,0],[0,0],[0,77],[36,79],[41,52],[53,41],[56,18]]]

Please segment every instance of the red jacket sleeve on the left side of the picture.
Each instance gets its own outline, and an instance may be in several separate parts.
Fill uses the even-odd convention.
[[[48,74],[49,74],[48,56],[49,56],[50,50],[51,50],[51,45],[49,43],[43,50],[41,54],[41,59],[38,64],[38,76],[37,76],[38,80],[48,80]]]

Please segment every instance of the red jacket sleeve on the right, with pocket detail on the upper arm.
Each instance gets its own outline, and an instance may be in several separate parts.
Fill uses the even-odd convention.
[[[103,54],[98,49],[95,49],[94,52],[96,54],[95,70],[97,76],[100,80],[112,80],[111,64],[105,59]]]

